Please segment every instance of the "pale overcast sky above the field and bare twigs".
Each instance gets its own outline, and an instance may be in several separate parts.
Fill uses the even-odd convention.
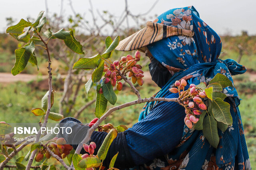
[[[148,11],[156,0],[128,0],[129,10],[132,14],[141,14]],[[47,0],[49,15],[60,13],[61,0]],[[74,10],[80,14],[86,14],[91,21],[88,12],[90,8],[88,0],[72,0]],[[94,11],[108,10],[115,16],[120,16],[124,10],[124,0],[92,0]],[[200,14],[200,18],[212,27],[218,34],[239,35],[242,30],[250,35],[256,35],[255,0],[159,0],[146,17],[160,15],[172,9],[193,5]],[[6,18],[15,19],[15,24],[21,18],[28,16],[36,18],[41,10],[46,10],[45,0],[2,0],[0,6],[0,32],[6,30]],[[69,0],[63,0],[64,15],[72,15]],[[100,21],[100,19],[98,20]],[[132,24],[132,20],[130,21]],[[146,22],[146,21],[145,21]]]

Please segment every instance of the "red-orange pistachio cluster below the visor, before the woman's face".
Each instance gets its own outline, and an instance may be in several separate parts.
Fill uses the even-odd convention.
[[[142,66],[136,64],[137,61],[140,61],[140,52],[136,51],[135,58],[131,55],[127,55],[126,57],[121,57],[120,61],[116,60],[111,63],[109,66],[108,64],[104,63],[104,83],[107,84],[108,82],[111,83],[112,86],[116,86],[116,89],[121,91],[123,88],[122,76],[126,76],[128,73],[129,77],[132,77],[132,82],[135,84],[138,82],[140,86],[143,84],[142,78],[144,77],[143,71],[141,70]],[[102,94],[102,89],[99,90],[99,93]]]

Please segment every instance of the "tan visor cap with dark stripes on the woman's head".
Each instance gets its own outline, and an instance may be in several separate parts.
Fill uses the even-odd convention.
[[[170,36],[193,37],[194,31],[148,21],[145,28],[120,41],[116,50],[145,52],[144,47]]]

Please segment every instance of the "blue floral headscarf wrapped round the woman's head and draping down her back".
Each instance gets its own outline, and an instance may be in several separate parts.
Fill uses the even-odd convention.
[[[188,29],[195,33],[194,37],[172,36],[147,46],[156,60],[168,68],[170,72],[176,72],[168,83],[154,95],[155,97],[160,98],[169,94],[169,89],[174,85],[174,82],[182,78],[185,78],[189,84],[207,83],[217,73],[221,73],[233,82],[231,75],[246,72],[244,66],[232,59],[225,61],[218,59],[222,48],[221,39],[213,29],[200,19],[193,6],[168,10],[158,16],[154,22]],[[177,72],[177,70],[179,71]],[[219,131],[220,144],[215,151],[214,157],[211,155],[213,151],[209,151],[214,150],[214,148],[204,139],[202,131],[196,131],[194,128],[188,129],[185,125],[182,141],[176,148],[176,154],[171,155],[172,158],[177,159],[184,155],[182,169],[208,169],[209,162],[212,159],[214,159],[218,168],[223,168],[223,170],[233,170],[235,159],[238,161],[238,167],[235,169],[251,169],[238,109],[240,104],[239,96],[236,89],[230,87],[224,88],[223,93],[234,99],[236,113],[231,113],[233,124],[224,133]],[[157,103],[146,103],[140,113],[139,121],[144,119]],[[188,148],[190,148],[190,151],[184,154]],[[195,150],[197,151],[195,152]],[[207,156],[207,154],[210,155]],[[202,155],[207,158],[203,162],[205,166],[202,166],[202,164],[195,166],[198,156]]]

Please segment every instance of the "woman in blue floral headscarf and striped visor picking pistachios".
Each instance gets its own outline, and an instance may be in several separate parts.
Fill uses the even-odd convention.
[[[121,41],[117,49],[145,52],[151,60],[152,80],[162,88],[156,97],[176,98],[178,94],[169,91],[176,80],[207,83],[221,73],[232,81],[231,75],[246,71],[231,59],[219,60],[221,47],[220,37],[190,6],[168,10],[154,22],[148,22],[146,28]],[[228,96],[225,101],[231,106],[233,124],[224,133],[219,130],[217,149],[208,143],[202,131],[184,125],[182,106],[175,102],[150,102],[144,106],[138,123],[118,133],[105,165],[119,152],[115,167],[120,169],[250,170],[238,109],[240,99],[235,88],[227,87],[223,92]],[[74,118],[61,121],[61,126],[72,126],[72,134],[64,135],[71,144],[78,144],[86,135],[89,127],[80,123]],[[105,137],[106,133],[94,131],[91,141],[99,147]]]

